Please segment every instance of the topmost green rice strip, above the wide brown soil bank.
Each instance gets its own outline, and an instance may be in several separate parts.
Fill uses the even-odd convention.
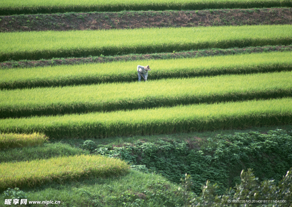
[[[0,1],[0,15],[121,10],[292,7],[289,0],[23,0]]]

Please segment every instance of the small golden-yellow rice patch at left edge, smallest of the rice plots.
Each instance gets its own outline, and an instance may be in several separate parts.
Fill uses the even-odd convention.
[[[0,134],[0,150],[34,145],[43,145],[43,143],[46,141],[48,141],[48,138],[44,134],[39,133]]]

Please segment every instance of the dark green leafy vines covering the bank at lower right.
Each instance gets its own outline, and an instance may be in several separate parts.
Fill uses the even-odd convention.
[[[215,147],[192,148],[186,141],[137,141],[121,147],[105,147],[85,141],[83,148],[93,154],[120,157],[134,169],[145,173],[157,172],[172,182],[179,183],[188,173],[193,178],[193,190],[199,194],[201,186],[209,180],[219,185],[222,194],[240,183],[242,169],[252,168],[260,180],[276,182],[291,168],[292,133],[272,130],[217,135]],[[208,140],[213,142],[213,139]],[[96,147],[96,148],[95,148]]]

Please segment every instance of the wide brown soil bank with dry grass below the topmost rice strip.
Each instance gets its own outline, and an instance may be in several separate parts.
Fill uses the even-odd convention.
[[[292,8],[36,14],[0,19],[0,32],[292,24]]]

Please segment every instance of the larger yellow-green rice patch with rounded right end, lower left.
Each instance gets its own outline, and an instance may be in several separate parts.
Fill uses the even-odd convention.
[[[0,191],[7,188],[23,188],[43,185],[52,181],[63,183],[80,177],[111,177],[124,175],[129,165],[114,158],[75,155],[51,159],[0,164]]]

